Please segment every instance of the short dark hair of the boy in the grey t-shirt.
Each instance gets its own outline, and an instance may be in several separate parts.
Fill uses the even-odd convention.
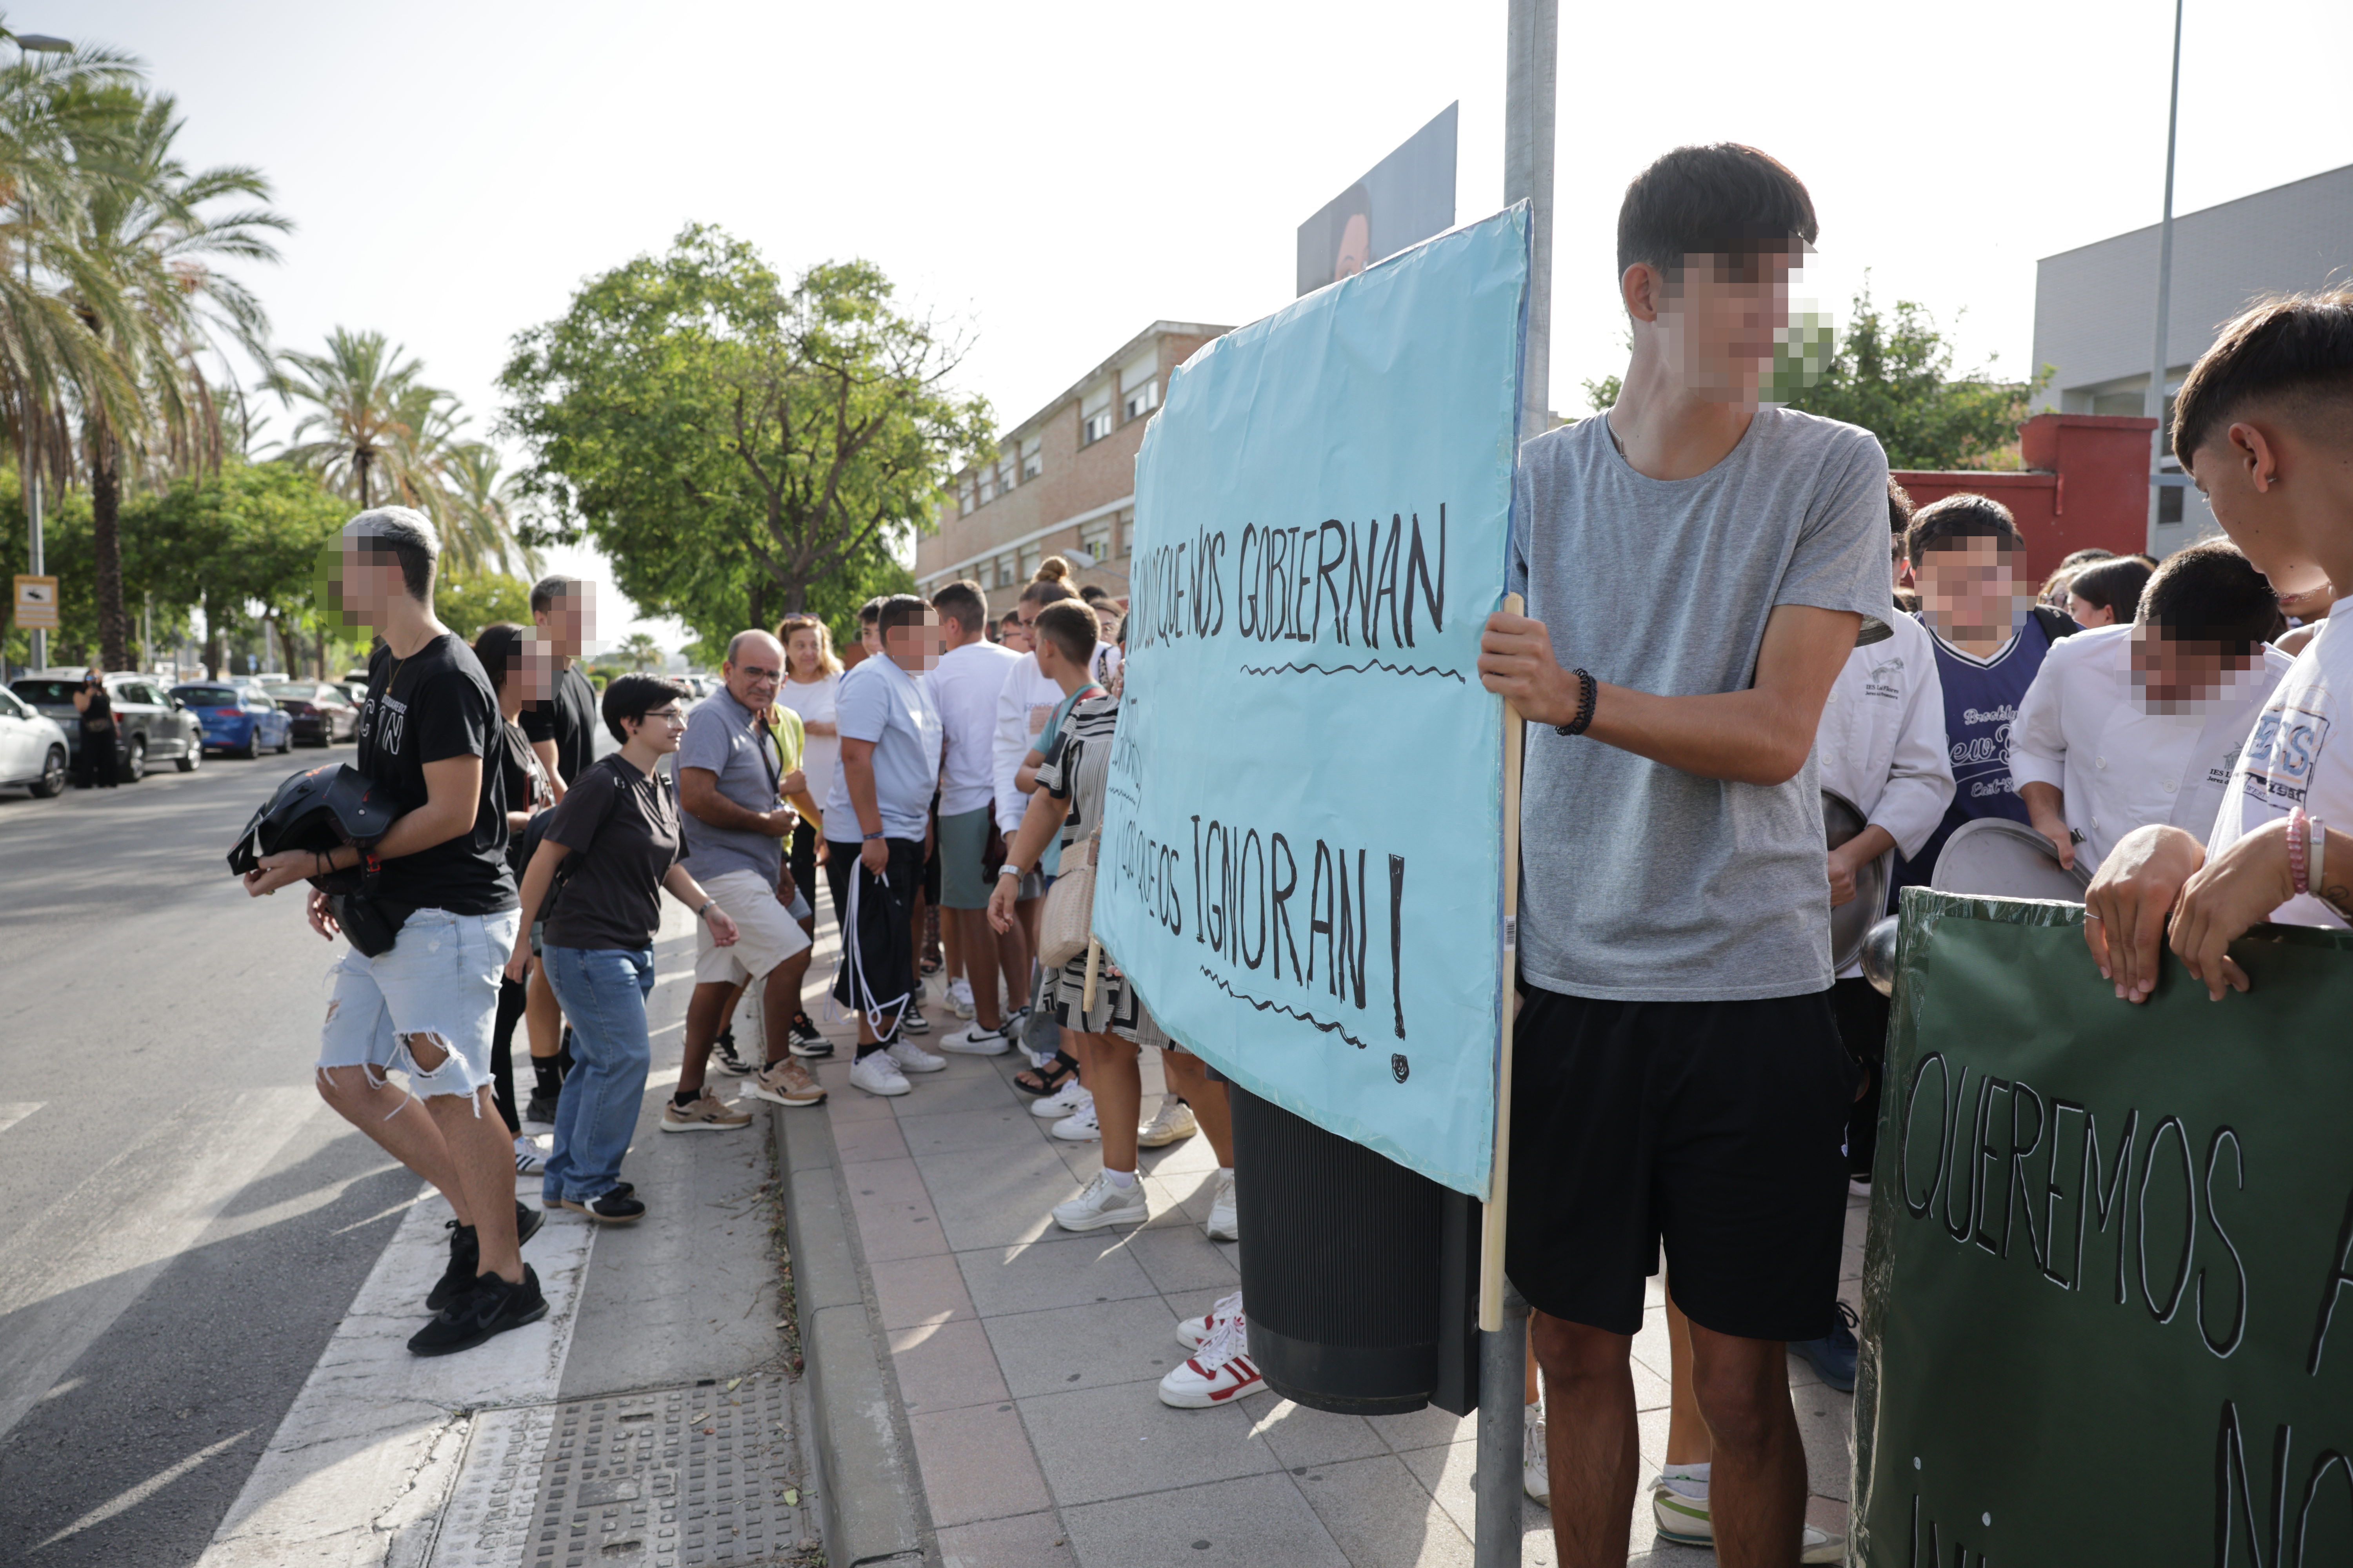
[[[1642,261],[1668,280],[1685,256],[1753,256],[1814,242],[1814,197],[1779,160],[1718,141],[1675,148],[1619,205],[1619,277]]]

